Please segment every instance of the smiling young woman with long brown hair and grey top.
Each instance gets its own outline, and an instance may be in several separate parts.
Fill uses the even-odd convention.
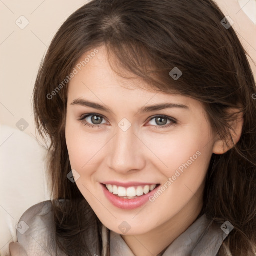
[[[256,255],[245,53],[211,0],[92,0],[74,12],[34,88],[53,199],[22,215],[14,245],[27,255]]]

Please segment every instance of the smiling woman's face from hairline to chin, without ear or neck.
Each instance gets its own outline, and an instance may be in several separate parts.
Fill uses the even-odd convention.
[[[157,230],[181,212],[198,215],[215,142],[201,103],[139,88],[146,84],[119,77],[98,50],[81,57],[90,55],[68,85],[66,143],[77,187],[120,234]]]

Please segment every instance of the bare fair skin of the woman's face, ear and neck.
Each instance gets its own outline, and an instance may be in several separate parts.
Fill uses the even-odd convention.
[[[79,173],[77,187],[100,221],[119,233],[135,255],[157,255],[196,220],[202,208],[211,155],[224,153],[228,148],[212,131],[199,101],[146,90],[146,84],[140,79],[118,76],[109,66],[104,46],[98,49],[68,87],[66,144],[71,167]],[[112,113],[71,105],[73,100],[81,98],[103,104]],[[185,104],[189,110],[166,108],[138,114],[144,105],[162,102]],[[83,121],[78,120],[89,113],[98,114],[102,119],[93,122],[90,115]],[[150,120],[162,114],[175,118],[177,124],[161,128],[156,118]],[[125,132],[118,127],[122,118],[131,124]],[[98,127],[85,126],[86,121]],[[163,121],[166,123],[166,119]],[[241,131],[242,122],[237,127]],[[240,131],[234,134],[237,141]],[[148,201],[139,208],[115,207],[99,184],[116,180],[163,185],[196,151],[201,155],[154,202]],[[125,234],[118,228],[123,221],[131,226]]]

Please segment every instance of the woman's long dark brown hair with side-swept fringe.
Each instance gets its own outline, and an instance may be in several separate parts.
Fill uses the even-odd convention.
[[[71,167],[65,142],[65,79],[82,54],[101,45],[119,75],[124,68],[148,88],[203,102],[221,138],[228,140],[235,119],[227,109],[240,106],[242,135],[226,153],[212,154],[200,215],[219,226],[226,220],[234,226],[218,255],[256,254],[255,81],[246,51],[232,26],[223,26],[223,18],[212,0],[92,0],[57,31],[36,78],[33,107],[38,132],[50,141],[54,242],[67,255],[102,254],[102,224],[67,178]],[[182,71],[177,80],[169,75],[174,67]]]

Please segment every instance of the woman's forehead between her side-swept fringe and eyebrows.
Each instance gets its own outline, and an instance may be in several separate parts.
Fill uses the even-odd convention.
[[[111,68],[104,46],[85,52],[77,61],[77,73],[68,84],[68,101],[77,98],[90,98],[101,103],[108,99],[115,102],[128,102],[128,104],[146,104],[171,102],[185,104],[190,107],[202,107],[201,102],[177,93],[157,91],[126,70],[118,70],[118,75]],[[124,77],[122,77],[124,76]],[[130,105],[131,106],[131,105]]]

